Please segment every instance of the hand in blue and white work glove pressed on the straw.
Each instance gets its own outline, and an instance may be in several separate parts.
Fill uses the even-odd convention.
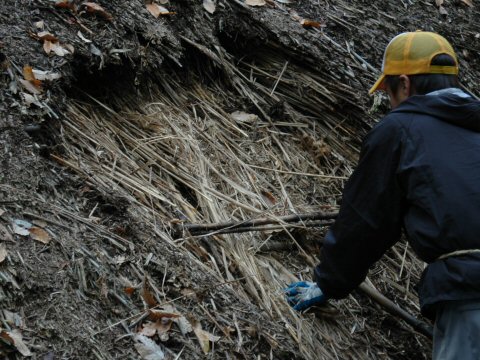
[[[288,303],[297,311],[303,311],[313,305],[327,302],[326,296],[314,282],[300,281],[288,285],[285,289]]]

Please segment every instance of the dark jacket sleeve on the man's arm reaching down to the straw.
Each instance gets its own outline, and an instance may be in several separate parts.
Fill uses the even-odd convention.
[[[365,138],[348,180],[335,224],[327,233],[314,270],[329,298],[343,298],[401,235],[403,195],[396,180],[402,129],[386,117]]]

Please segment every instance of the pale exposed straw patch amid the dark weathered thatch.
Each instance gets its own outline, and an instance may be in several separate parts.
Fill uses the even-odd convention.
[[[418,341],[428,349],[428,340],[408,335],[409,327],[401,322],[395,325],[403,329],[396,330],[401,338],[389,336],[388,327],[379,327],[385,313],[364,299],[361,304],[355,297],[335,302],[317,314],[317,319],[290,309],[282,289],[291,281],[310,278],[318,244],[308,238],[320,229],[310,231],[307,240],[295,233],[298,230],[172,236],[172,223],[274,220],[287,214],[337,209],[356,160],[356,147],[348,146],[339,133],[349,134],[355,143],[359,141],[353,139],[355,127],[338,124],[333,114],[311,115],[317,109],[312,103],[328,97],[329,90],[318,74],[296,65],[284,70],[282,60],[271,55],[267,52],[255,63],[243,62],[231,72],[238,92],[226,91],[222,80],[207,85],[192,75],[194,79],[186,86],[165,75],[162,87],[151,90],[148,100],[141,103],[136,96],[115,97],[108,104],[86,96],[87,101],[69,107],[62,131],[65,153],[54,157],[85,176],[90,186],[130,204],[132,219],[155,234],[146,249],[146,244],[133,244],[134,253],[161,256],[158,249],[167,243],[194,259],[215,282],[234,283],[229,296],[251,302],[269,321],[283,324],[276,329],[280,333],[272,334],[290,338],[276,345],[280,349],[295,352],[298,348],[298,354],[307,359],[402,356],[408,341]],[[232,63],[227,65],[233,69]],[[270,119],[265,121],[234,112],[241,110],[235,107],[241,95],[258,99],[257,113],[264,104],[280,99],[311,111],[306,116],[282,104],[283,120],[265,114]],[[409,284],[417,280],[421,267],[401,244],[375,269],[372,279],[382,289],[384,283],[394,287],[402,306],[417,311]],[[188,269],[184,272],[188,274]],[[156,288],[162,286],[161,278],[150,281]],[[168,293],[165,300],[174,305],[182,302]],[[235,312],[228,305],[219,312],[212,309],[213,328]],[[242,331],[237,329],[232,336],[240,337]],[[242,347],[241,340],[238,347]]]

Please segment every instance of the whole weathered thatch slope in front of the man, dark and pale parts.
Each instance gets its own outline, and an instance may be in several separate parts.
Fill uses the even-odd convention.
[[[360,293],[315,314],[285,303],[285,285],[310,277],[325,224],[174,230],[336,211],[361,139],[386,109],[366,89],[388,39],[442,32],[477,91],[478,5],[38,1],[21,18],[15,3],[0,5],[0,351],[429,357],[428,339]],[[63,55],[44,55],[46,41]],[[370,280],[418,315],[422,268],[401,243]]]

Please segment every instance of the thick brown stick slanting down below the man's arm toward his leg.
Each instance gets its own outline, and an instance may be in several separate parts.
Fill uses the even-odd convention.
[[[420,334],[423,334],[430,339],[433,338],[433,329],[430,325],[417,319],[413,315],[403,310],[393,301],[383,296],[378,290],[374,289],[373,287],[371,287],[370,285],[367,285],[364,282],[361,283],[358,288],[361,291],[363,291],[363,293],[367,295],[370,299],[375,301],[377,304],[381,305],[390,314],[398,316],[403,320],[405,320],[407,324],[412,326]]]

